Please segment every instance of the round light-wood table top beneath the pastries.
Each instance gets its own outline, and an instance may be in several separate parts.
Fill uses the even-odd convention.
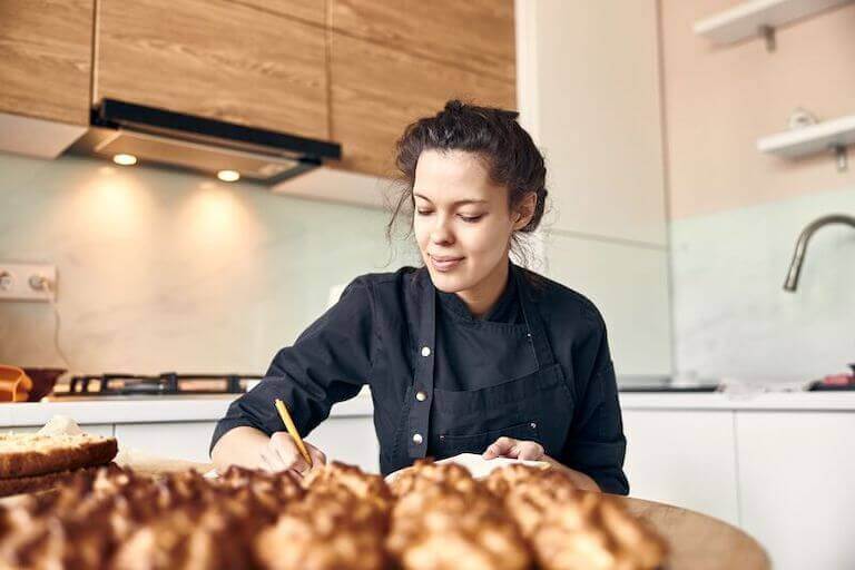
[[[210,463],[189,461],[147,461],[128,466],[150,474],[195,469],[207,472]],[[648,521],[671,547],[665,570],[769,570],[763,548],[751,537],[730,524],[699,512],[670,504],[618,498],[629,511]]]

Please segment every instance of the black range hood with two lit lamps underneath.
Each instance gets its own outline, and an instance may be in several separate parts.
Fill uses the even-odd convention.
[[[90,128],[68,153],[150,164],[273,186],[342,157],[336,142],[168,111],[115,99],[92,109]]]

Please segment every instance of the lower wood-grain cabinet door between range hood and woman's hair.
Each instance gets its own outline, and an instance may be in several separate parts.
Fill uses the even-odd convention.
[[[394,175],[394,146],[406,125],[458,97],[515,108],[512,81],[439,63],[407,51],[333,32],[332,138],[342,168]]]

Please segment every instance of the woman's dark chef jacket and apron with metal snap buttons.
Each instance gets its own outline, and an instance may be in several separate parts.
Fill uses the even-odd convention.
[[[435,324],[426,328],[431,314]],[[435,338],[425,331],[435,331]],[[534,337],[543,338],[532,343],[535,331],[542,335]],[[432,364],[428,381],[425,361]],[[554,374],[540,374],[550,363]],[[483,318],[473,317],[458,295],[438,291],[424,267],[357,277],[293,346],[276,354],[264,380],[232,403],[212,448],[240,425],[282,431],[273,405],[277,397],[287,403],[299,433],[308,434],[335,402],[355,396],[366,383],[384,474],[419,456],[481,452],[495,436],[510,435],[539,441],[605,492],[629,492],[600,313],[582,295],[513,263],[504,292]],[[538,422],[528,422],[538,411]],[[471,421],[454,420],[466,414]],[[489,422],[480,420],[485,416]],[[426,432],[417,443],[414,431]]]

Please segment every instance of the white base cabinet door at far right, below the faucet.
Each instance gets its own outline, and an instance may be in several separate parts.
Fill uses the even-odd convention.
[[[855,414],[739,412],[741,525],[776,570],[855,568]]]

